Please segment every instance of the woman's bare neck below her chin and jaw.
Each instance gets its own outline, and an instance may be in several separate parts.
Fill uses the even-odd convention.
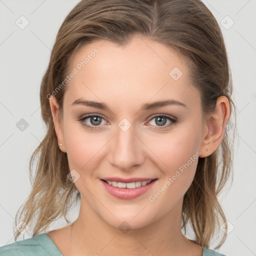
[[[148,225],[122,229],[106,223],[81,197],[79,215],[70,226],[70,255],[200,256],[202,248],[181,232],[181,209],[182,200]]]

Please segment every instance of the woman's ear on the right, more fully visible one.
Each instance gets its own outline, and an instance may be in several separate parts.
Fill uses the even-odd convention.
[[[216,100],[214,112],[207,115],[204,123],[199,157],[206,157],[218,148],[225,132],[229,114],[230,108],[227,97],[219,96]]]

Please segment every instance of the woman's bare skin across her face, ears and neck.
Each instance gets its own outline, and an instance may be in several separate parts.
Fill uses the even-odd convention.
[[[139,36],[124,46],[109,41],[87,44],[74,55],[71,69],[94,48],[99,52],[66,85],[63,119],[58,118],[55,97],[49,99],[58,144],[62,143],[59,149],[67,153],[70,170],[80,175],[75,186],[81,203],[72,228],[67,225],[47,234],[64,256],[201,255],[202,248],[190,242],[180,228],[183,196],[198,157],[155,201],[148,198],[196,151],[206,157],[217,149],[229,117],[227,98],[220,96],[215,111],[202,121],[199,91],[189,80],[187,59]],[[183,73],[178,80],[169,75],[173,67]],[[110,110],[71,106],[78,98],[104,102]],[[186,107],[140,109],[143,103],[166,99]],[[83,121],[94,130],[78,120],[89,113],[103,117],[98,126],[89,117]],[[154,114],[170,115],[177,122],[167,127],[171,121],[166,119],[161,126]],[[126,131],[118,126],[122,118],[131,124]],[[146,193],[124,200],[104,189],[100,182],[104,176],[158,179]],[[118,227],[123,221],[130,226],[126,233]]]

